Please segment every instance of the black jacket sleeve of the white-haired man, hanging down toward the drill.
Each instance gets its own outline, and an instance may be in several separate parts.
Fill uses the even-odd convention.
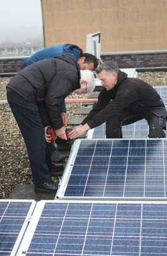
[[[45,106],[50,126],[55,130],[64,126],[61,113],[61,104],[65,97],[75,90],[76,83],[79,83],[77,73],[60,71],[55,74],[47,88]]]

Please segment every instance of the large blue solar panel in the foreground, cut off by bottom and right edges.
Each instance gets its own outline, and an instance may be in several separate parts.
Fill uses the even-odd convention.
[[[18,256],[167,255],[166,202],[39,204]]]

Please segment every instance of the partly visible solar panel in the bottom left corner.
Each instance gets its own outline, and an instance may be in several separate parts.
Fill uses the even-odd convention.
[[[0,255],[16,255],[34,200],[0,200]]]

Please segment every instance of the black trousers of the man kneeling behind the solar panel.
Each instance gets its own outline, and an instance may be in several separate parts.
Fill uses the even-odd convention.
[[[165,138],[166,130],[166,116],[158,116],[148,111],[141,115],[133,115],[128,110],[122,110],[117,115],[112,116],[106,122],[106,136],[107,138],[123,138],[122,126],[130,125],[141,119],[145,119],[149,126],[149,138]]]

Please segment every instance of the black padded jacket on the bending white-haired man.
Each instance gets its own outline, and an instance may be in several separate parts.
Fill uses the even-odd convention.
[[[42,123],[54,129],[63,126],[60,105],[80,88],[80,69],[72,54],[38,61],[22,69],[7,85],[39,106]]]

